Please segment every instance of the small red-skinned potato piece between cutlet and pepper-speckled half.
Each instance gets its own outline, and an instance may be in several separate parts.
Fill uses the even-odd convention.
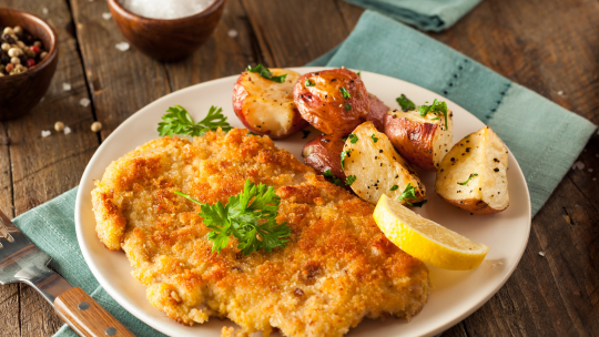
[[[341,153],[345,141],[331,135],[319,135],[304,145],[304,163],[318,174],[331,170],[334,176],[345,182],[345,172],[341,166]]]

